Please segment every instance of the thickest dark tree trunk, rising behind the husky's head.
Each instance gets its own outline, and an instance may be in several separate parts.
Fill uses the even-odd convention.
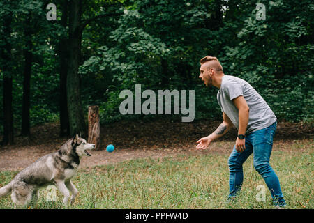
[[[68,118],[70,123],[70,134],[75,135],[82,133],[86,137],[86,125],[82,110],[82,102],[80,95],[80,75],[78,75],[78,67],[80,65],[81,52],[81,10],[82,3],[80,0],[70,1],[69,14],[69,61],[68,61],[68,77],[67,77],[67,99],[68,99]]]

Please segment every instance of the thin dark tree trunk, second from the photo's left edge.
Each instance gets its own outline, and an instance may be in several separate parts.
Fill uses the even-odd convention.
[[[33,53],[31,52],[31,31],[30,27],[25,26],[25,38],[27,38],[26,49],[24,49],[24,81],[23,81],[23,102],[22,102],[22,136],[29,136],[30,122],[29,122],[29,109],[30,109],[30,92],[31,92],[31,64],[33,62]]]

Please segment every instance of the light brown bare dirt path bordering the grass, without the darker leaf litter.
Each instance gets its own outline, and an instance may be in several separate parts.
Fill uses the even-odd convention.
[[[227,153],[232,147],[232,142],[213,143],[213,149],[207,151],[195,150],[194,146],[185,149],[119,149],[116,148],[114,152],[107,151],[91,151],[91,157],[83,157],[80,163],[80,168],[94,167],[98,165],[114,164],[125,160],[132,160],[137,158],[151,157],[153,159],[171,157],[179,154],[207,154],[207,153]],[[218,151],[217,148],[220,148]],[[0,151],[0,171],[5,170],[21,170],[28,167],[29,164],[43,157],[48,153],[54,153],[57,150],[47,151],[40,150],[38,146],[29,146],[17,149],[6,149]]]

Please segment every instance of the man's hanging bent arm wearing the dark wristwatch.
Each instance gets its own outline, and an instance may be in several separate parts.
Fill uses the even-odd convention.
[[[246,100],[244,96],[239,96],[232,100],[234,105],[239,110],[239,130],[238,134],[246,134],[246,128],[248,127],[248,114],[250,109],[248,108],[248,104],[246,104]],[[238,152],[243,152],[246,149],[246,139],[239,139],[237,137],[236,141],[236,149]]]

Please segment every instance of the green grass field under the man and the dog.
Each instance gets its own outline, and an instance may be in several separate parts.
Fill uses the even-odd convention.
[[[274,150],[271,166],[281,182],[286,208],[313,207],[313,141],[297,141],[290,149]],[[79,190],[68,208],[274,208],[262,177],[253,168],[253,156],[244,164],[244,185],[236,200],[227,202],[229,172],[227,153],[177,155],[162,160],[151,158],[119,162],[114,165],[80,169],[73,183]],[[0,172],[2,185],[16,171]],[[266,188],[266,201],[257,201]],[[40,191],[35,206],[64,208],[57,201],[46,201]],[[13,208],[10,197],[0,198],[0,208]]]

